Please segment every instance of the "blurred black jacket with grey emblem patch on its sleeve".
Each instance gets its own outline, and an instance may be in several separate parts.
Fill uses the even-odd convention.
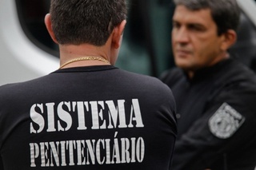
[[[198,70],[162,77],[177,104],[174,170],[254,170],[256,164],[256,78],[228,59]]]

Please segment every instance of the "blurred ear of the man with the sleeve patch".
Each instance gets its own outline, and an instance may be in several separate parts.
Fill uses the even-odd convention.
[[[227,30],[226,33],[222,35],[222,50],[229,49],[237,41],[237,34],[234,30]]]

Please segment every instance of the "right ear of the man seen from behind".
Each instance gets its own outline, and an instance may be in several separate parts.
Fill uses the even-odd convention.
[[[122,34],[126,27],[126,20],[123,20],[113,30],[112,45],[115,49],[118,49],[122,43]]]

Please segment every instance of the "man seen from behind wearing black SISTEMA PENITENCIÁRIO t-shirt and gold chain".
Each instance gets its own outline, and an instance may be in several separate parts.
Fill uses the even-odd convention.
[[[125,0],[52,0],[45,22],[61,67],[0,87],[0,169],[170,169],[170,89],[113,66]]]

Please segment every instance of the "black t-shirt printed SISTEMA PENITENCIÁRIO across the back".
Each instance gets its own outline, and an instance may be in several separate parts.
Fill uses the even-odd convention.
[[[0,169],[170,169],[174,113],[161,81],[110,65],[3,85]]]

